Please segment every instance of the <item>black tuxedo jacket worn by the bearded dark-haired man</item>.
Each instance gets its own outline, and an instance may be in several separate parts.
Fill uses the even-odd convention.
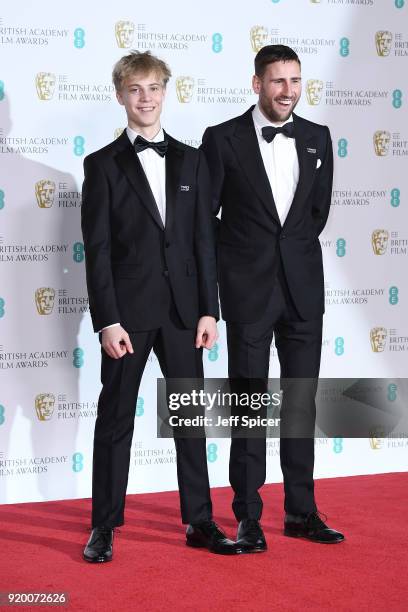
[[[217,243],[223,318],[241,323],[259,320],[280,261],[300,317],[319,318],[324,312],[324,281],[318,236],[326,224],[331,200],[330,132],[326,126],[293,115],[300,174],[282,227],[252,110],[208,128],[203,136],[213,214],[222,207]]]

